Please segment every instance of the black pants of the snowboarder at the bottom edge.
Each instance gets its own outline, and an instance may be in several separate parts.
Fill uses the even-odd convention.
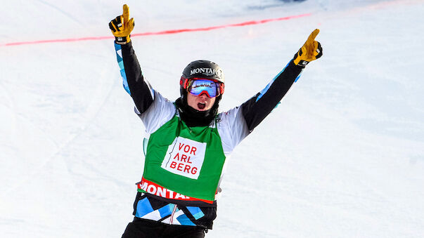
[[[205,228],[187,225],[169,225],[156,222],[154,220],[145,220],[134,218],[128,223],[122,238],[203,238],[205,237]]]

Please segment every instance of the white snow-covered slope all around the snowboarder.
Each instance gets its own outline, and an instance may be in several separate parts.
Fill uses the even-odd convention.
[[[111,36],[128,4],[143,74],[170,100],[192,60],[226,73],[221,110],[255,95],[315,28],[323,57],[233,152],[207,237],[424,237],[424,1],[5,1],[0,237],[120,237],[146,135]]]

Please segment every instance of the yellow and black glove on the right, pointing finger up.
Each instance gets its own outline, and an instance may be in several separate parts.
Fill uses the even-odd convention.
[[[297,51],[293,58],[295,65],[305,67],[309,62],[316,60],[323,55],[323,48],[321,48],[321,44],[315,40],[318,33],[319,29],[315,29],[314,32],[309,35],[302,48]]]

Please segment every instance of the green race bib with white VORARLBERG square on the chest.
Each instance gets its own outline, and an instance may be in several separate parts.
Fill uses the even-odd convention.
[[[216,126],[189,128],[175,115],[150,135],[143,179],[188,197],[214,201],[225,159]]]

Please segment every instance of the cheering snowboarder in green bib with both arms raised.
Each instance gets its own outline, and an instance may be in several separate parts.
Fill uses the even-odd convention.
[[[205,237],[216,218],[224,163],[234,147],[278,105],[302,69],[322,55],[311,33],[293,60],[262,91],[242,105],[218,113],[224,72],[214,62],[195,60],[179,79],[174,103],[144,79],[131,46],[129,9],[109,23],[115,36],[124,88],[150,134],[134,220],[122,237]]]

